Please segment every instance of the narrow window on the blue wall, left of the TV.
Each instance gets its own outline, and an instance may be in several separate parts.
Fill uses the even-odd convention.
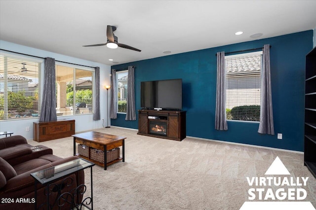
[[[117,72],[118,113],[126,113],[128,71]]]

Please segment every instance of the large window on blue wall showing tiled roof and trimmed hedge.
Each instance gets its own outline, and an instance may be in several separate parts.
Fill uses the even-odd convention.
[[[225,56],[227,120],[260,121],[262,51]]]

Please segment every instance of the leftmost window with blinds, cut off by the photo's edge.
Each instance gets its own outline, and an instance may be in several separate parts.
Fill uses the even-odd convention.
[[[0,55],[0,120],[21,120],[40,115],[42,60]]]

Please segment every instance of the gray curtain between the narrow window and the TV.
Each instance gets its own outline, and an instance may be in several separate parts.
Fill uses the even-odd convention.
[[[134,73],[135,73],[134,66],[128,66],[125,120],[136,120]]]

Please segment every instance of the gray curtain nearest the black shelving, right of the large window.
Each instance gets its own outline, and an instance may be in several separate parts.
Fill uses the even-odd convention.
[[[261,74],[261,107],[258,133],[275,135],[270,75],[270,45],[263,47]]]

